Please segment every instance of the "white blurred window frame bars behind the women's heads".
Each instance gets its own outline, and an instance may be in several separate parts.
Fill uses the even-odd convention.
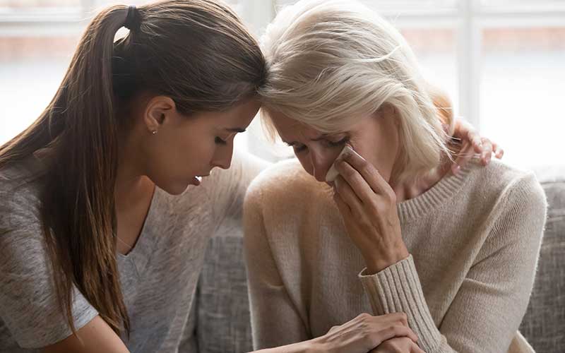
[[[292,1],[292,0],[291,0]],[[278,4],[289,0],[237,0],[230,5],[257,35],[272,20]],[[365,1],[369,3],[370,1]],[[74,11],[70,8],[30,8],[18,13],[0,12],[1,36],[60,36],[81,32],[95,11],[107,4],[103,0],[81,0]],[[402,2],[400,2],[402,4]],[[403,4],[406,6],[407,3]],[[61,9],[66,12],[61,14]],[[55,18],[54,15],[57,14]],[[458,107],[456,114],[480,128],[480,77],[482,33],[488,28],[565,27],[565,1],[539,4],[501,4],[484,6],[481,0],[458,0],[445,8],[403,8],[383,6],[381,15],[398,28],[453,28],[456,30],[456,70],[458,75]],[[250,137],[250,147],[256,145]]]

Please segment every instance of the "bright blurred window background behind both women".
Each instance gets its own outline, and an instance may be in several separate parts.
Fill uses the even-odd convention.
[[[97,9],[149,1],[0,0],[0,144],[47,106]],[[260,36],[289,0],[227,1]],[[565,0],[366,0],[412,45],[456,115],[518,167],[565,164]],[[256,121],[237,147],[273,159]]]

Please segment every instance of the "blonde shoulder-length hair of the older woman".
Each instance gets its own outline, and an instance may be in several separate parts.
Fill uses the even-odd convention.
[[[439,112],[412,50],[366,6],[299,1],[280,11],[261,45],[268,74],[259,94],[271,131],[269,115],[275,112],[335,133],[388,104],[396,112],[402,146],[396,181],[428,172],[448,155]]]

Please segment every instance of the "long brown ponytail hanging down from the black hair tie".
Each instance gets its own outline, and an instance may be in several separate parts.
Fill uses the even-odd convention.
[[[73,285],[119,333],[129,331],[116,261],[114,183],[118,131],[112,92],[114,36],[128,8],[113,6],[86,28],[52,102],[0,147],[0,168],[49,148],[40,215],[61,310],[73,333]]]

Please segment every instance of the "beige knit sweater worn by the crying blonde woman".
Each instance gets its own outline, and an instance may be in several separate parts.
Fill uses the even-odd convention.
[[[427,353],[532,352],[518,333],[546,213],[533,174],[493,160],[398,204],[410,256],[375,275],[331,191],[283,162],[244,205],[254,347],[325,334],[359,313],[405,312]]]

